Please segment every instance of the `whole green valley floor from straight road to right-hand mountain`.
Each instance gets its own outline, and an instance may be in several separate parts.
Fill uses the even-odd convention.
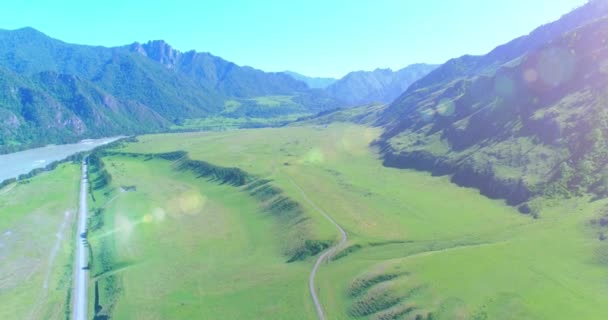
[[[348,233],[316,277],[327,319],[608,317],[606,201],[542,200],[534,219],[447,177],[383,167],[369,148],[378,135],[310,125],[148,135],[110,150],[91,167],[89,310],[316,319],[312,255],[340,240],[323,211]],[[233,185],[149,156],[177,150],[253,178]],[[0,306],[25,301],[16,290],[0,291]]]

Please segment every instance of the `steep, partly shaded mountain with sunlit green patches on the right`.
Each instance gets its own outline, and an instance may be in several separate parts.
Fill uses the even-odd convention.
[[[608,3],[591,1],[414,83],[380,115],[388,166],[520,205],[608,195]],[[528,212],[528,204],[522,205]]]

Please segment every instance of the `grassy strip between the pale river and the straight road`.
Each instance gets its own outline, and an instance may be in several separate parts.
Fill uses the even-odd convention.
[[[78,165],[0,189],[0,319],[65,319]]]

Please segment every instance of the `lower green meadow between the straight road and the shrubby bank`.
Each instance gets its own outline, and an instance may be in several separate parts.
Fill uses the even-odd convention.
[[[105,204],[104,224],[89,234],[105,308],[100,314],[314,315],[306,299],[309,264],[287,263],[285,236],[291,233],[243,188],[197,179],[166,160],[110,156],[104,162],[115,189],[96,191],[95,206]],[[122,185],[137,190],[120,192]],[[103,256],[111,257],[107,270]]]

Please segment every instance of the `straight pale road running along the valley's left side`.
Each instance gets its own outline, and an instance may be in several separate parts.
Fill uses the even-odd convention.
[[[74,288],[72,292],[72,319],[87,319],[87,164],[82,161],[80,181],[80,206],[78,209],[78,232],[76,236],[76,261],[74,263]]]

